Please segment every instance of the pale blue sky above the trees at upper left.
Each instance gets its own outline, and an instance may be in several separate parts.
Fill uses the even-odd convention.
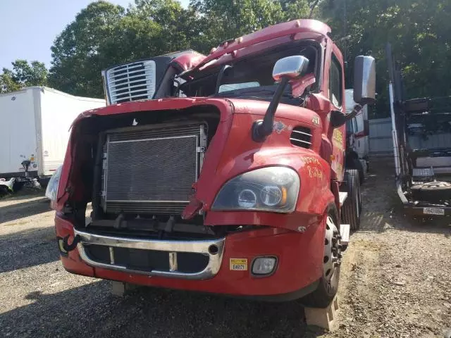
[[[0,0],[0,73],[18,58],[50,67],[50,47],[92,0]],[[128,7],[130,0],[109,0]],[[133,1],[134,2],[134,1]],[[188,0],[182,0],[187,6]]]

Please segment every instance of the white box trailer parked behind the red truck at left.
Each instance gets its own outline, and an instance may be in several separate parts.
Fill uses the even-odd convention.
[[[48,87],[26,87],[0,94],[0,177],[28,175],[47,179],[63,164],[69,127],[83,111],[105,106],[91,99]]]

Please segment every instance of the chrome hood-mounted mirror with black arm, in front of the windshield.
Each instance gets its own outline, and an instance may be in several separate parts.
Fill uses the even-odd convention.
[[[290,80],[295,80],[304,75],[309,65],[309,59],[305,56],[294,55],[280,58],[273,67],[273,79],[279,82],[276,92],[266,109],[263,120],[255,121],[252,125],[252,139],[255,142],[263,142],[273,132],[274,115],[282,97],[283,91]]]

